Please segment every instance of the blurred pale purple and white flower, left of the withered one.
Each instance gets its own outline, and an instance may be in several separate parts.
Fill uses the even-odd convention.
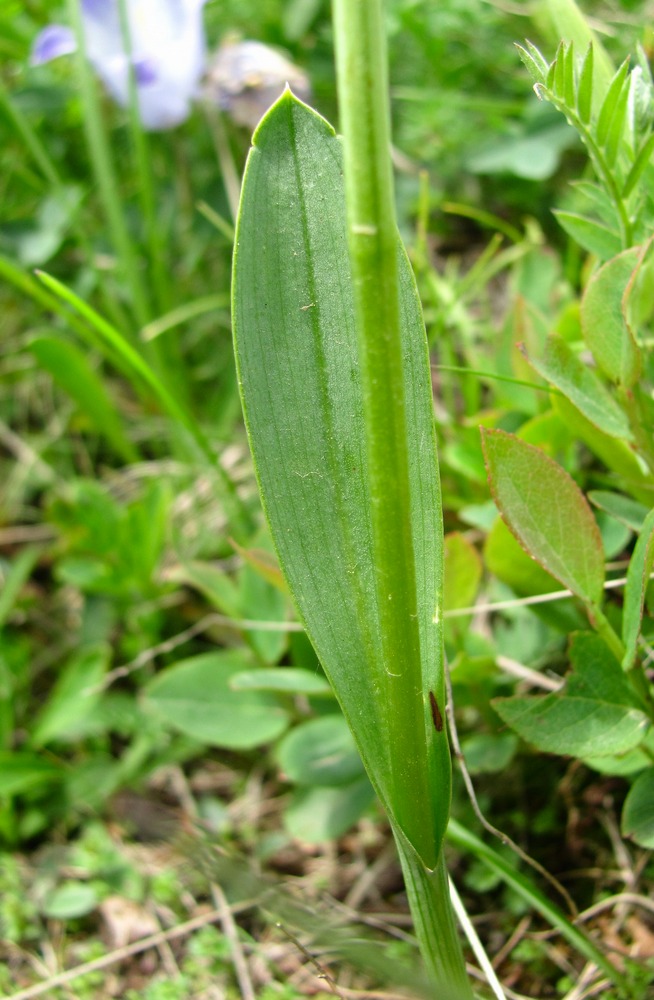
[[[127,0],[139,111],[149,130],[173,128],[189,115],[204,71],[206,0]],[[111,96],[129,103],[128,60],[118,0],[82,0],[86,52]],[[32,64],[77,48],[70,28],[52,24],[37,37]]]

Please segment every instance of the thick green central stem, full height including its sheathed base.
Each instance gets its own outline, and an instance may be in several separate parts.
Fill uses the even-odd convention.
[[[334,0],[333,10],[383,659],[378,676],[380,696],[393,706],[386,733],[388,805],[416,934],[437,995],[472,1000],[441,850],[439,822],[446,821],[449,801],[439,801],[438,809],[425,807],[439,792],[445,796],[430,787],[425,732],[382,3]],[[421,752],[398,753],[407,732],[425,734],[417,741]]]

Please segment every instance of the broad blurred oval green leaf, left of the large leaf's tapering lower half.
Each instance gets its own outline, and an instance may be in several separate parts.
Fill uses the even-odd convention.
[[[252,750],[277,739],[289,721],[274,695],[232,690],[232,677],[253,666],[243,650],[182,660],[146,686],[146,705],[210,746]]]

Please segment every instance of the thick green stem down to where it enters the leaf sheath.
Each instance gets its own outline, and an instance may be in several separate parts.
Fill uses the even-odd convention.
[[[337,80],[345,153],[345,191],[372,497],[375,588],[387,690],[394,705],[388,743],[424,730],[420,637],[411,532],[409,459],[387,105],[386,42],[380,0],[335,0]],[[396,676],[393,677],[392,674]],[[400,675],[400,676],[397,676]],[[394,681],[399,681],[399,685]],[[403,697],[395,697],[398,689]],[[406,697],[409,688],[416,694]],[[392,759],[391,800],[429,801],[424,760]],[[396,818],[428,864],[439,844],[426,817]]]

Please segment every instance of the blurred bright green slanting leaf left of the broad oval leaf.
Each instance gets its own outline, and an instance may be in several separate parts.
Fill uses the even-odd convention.
[[[31,746],[76,738],[77,724],[85,721],[101,696],[98,685],[107,672],[110,658],[110,647],[101,644],[82,648],[66,664],[37,716]]]

